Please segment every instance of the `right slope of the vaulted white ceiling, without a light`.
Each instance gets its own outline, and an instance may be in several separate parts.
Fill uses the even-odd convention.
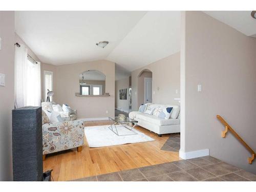
[[[180,51],[180,11],[149,11],[107,57],[134,70]]]

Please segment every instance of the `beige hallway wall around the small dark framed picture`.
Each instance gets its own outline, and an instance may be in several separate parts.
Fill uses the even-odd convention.
[[[120,100],[119,99],[119,90],[120,89],[127,89],[127,99]],[[129,77],[124,79],[116,80],[115,84],[115,108],[124,112],[129,113]]]

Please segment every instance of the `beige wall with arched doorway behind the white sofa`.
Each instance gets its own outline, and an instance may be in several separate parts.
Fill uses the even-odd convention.
[[[138,76],[144,69],[152,71],[152,91],[155,91],[155,94],[152,94],[152,102],[179,104],[174,98],[180,98],[180,53],[175,53],[132,72],[132,111],[138,110],[141,104],[138,92],[144,92],[144,86],[143,89],[138,89]]]

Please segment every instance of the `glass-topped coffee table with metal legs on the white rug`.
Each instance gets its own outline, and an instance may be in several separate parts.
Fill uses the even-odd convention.
[[[125,118],[120,118],[120,117],[109,117],[109,120],[112,121],[112,123],[109,126],[109,129],[114,132],[117,136],[125,136],[125,135],[137,135],[138,133],[134,132],[133,129],[138,123],[138,121],[131,119],[129,117]],[[132,125],[134,124],[134,125]],[[130,130],[132,133],[131,134],[125,134],[125,135],[119,135],[118,133],[118,126],[116,125],[121,125],[122,127],[125,127],[127,130]],[[132,126],[131,126],[132,125]]]

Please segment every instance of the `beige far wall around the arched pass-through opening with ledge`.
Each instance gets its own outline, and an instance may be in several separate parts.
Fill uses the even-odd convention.
[[[67,103],[78,111],[78,118],[115,116],[115,63],[107,60],[56,66],[54,73],[54,101]],[[79,74],[98,70],[106,76],[105,92],[110,97],[76,97],[79,93]],[[108,111],[108,114],[106,114]]]

